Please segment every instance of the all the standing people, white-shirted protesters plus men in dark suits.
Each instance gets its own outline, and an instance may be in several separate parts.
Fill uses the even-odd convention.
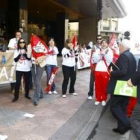
[[[47,84],[51,76],[53,68],[57,67],[58,48],[55,45],[53,38],[48,40],[49,52],[46,54],[46,65],[40,66],[39,60],[32,55],[31,45],[26,45],[25,40],[21,37],[21,32],[16,31],[16,38],[9,42],[9,49],[14,50],[14,63],[16,67],[16,85],[14,91],[13,102],[19,98],[19,88],[21,84],[21,77],[25,80],[25,98],[31,99],[29,96],[29,79],[33,78],[35,90],[33,103],[38,105],[39,99],[43,98],[43,90],[41,85],[41,77],[44,69],[47,73]],[[94,85],[95,85],[95,105],[106,105],[107,94],[111,94],[111,112],[117,119],[117,128],[113,132],[124,134],[131,129],[130,120],[126,115],[129,97],[114,95],[114,89],[117,80],[128,81],[129,86],[138,85],[140,79],[137,77],[139,73],[136,71],[136,60],[134,55],[130,52],[130,41],[124,39],[119,44],[120,56],[114,65],[110,67],[113,61],[114,52],[109,47],[108,41],[103,39],[101,35],[97,36],[97,43],[92,47],[91,53],[91,74],[88,99],[93,99]],[[75,92],[76,81],[76,63],[78,58],[78,50],[74,47],[72,40],[66,40],[66,46],[62,49],[62,97],[66,98],[67,87],[70,79],[69,93],[77,96]],[[117,67],[117,69],[116,69]],[[135,73],[135,74],[134,74]],[[130,80],[131,79],[131,80]],[[95,84],[94,84],[95,83]],[[13,86],[13,85],[12,85]],[[13,87],[12,87],[13,88]],[[48,94],[57,94],[55,83],[52,84]],[[138,106],[138,105],[137,105]],[[137,107],[139,108],[139,107]],[[137,112],[137,111],[136,111]],[[133,115],[132,115],[133,116]],[[135,124],[135,119],[132,119],[132,126]],[[137,124],[135,124],[137,125]],[[140,127],[140,126],[137,126]],[[137,131],[137,130],[136,130]]]

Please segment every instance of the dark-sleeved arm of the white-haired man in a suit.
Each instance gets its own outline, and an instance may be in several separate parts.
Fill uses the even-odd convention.
[[[128,59],[124,55],[121,55],[118,61],[119,61],[119,69],[112,71],[111,77],[117,78],[125,76],[127,74],[127,69],[129,66]]]

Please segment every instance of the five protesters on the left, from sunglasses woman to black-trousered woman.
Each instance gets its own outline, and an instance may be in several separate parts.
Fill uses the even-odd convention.
[[[19,90],[21,85],[21,79],[23,77],[25,83],[25,98],[31,99],[29,96],[30,85],[33,81],[35,90],[33,103],[35,106],[38,105],[39,99],[43,98],[43,90],[41,85],[41,77],[44,70],[47,75],[47,85],[52,73],[52,70],[57,67],[57,55],[58,48],[55,45],[53,38],[49,38],[48,47],[49,52],[45,54],[46,65],[39,65],[39,59],[35,58],[32,53],[31,43],[26,44],[25,40],[21,37],[21,31],[15,32],[15,38],[9,41],[9,50],[14,51],[14,62],[13,69],[16,69],[16,83],[11,83],[11,90],[14,90],[13,102],[16,102],[19,98]],[[71,39],[66,40],[66,46],[62,50],[62,72],[64,80],[62,83],[62,97],[66,98],[67,86],[70,79],[69,93],[77,96],[74,85],[76,81],[76,62],[78,57],[78,51],[74,49]],[[12,77],[12,76],[11,76]],[[48,94],[57,94],[55,83],[51,85]]]

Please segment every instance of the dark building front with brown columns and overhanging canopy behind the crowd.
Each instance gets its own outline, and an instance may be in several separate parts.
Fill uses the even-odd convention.
[[[61,52],[69,22],[79,23],[78,41],[95,41],[101,18],[124,17],[121,0],[1,0],[0,35],[9,40],[17,29],[27,42],[34,33],[46,42],[54,37]]]

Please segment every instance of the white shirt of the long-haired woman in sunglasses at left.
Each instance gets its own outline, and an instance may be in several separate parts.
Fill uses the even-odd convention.
[[[15,50],[14,58],[16,58],[20,54],[21,50]],[[30,71],[31,61],[27,60],[24,57],[20,57],[20,59],[16,62],[16,70],[17,71]]]

